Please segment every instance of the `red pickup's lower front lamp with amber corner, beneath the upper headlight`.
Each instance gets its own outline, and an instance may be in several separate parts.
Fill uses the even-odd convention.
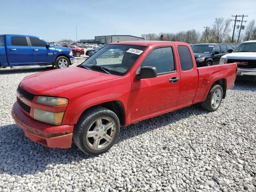
[[[34,119],[35,120],[53,124],[53,125],[60,125],[62,122],[63,116],[64,116],[64,112],[54,113],[54,112],[50,112],[50,111],[34,109]]]

